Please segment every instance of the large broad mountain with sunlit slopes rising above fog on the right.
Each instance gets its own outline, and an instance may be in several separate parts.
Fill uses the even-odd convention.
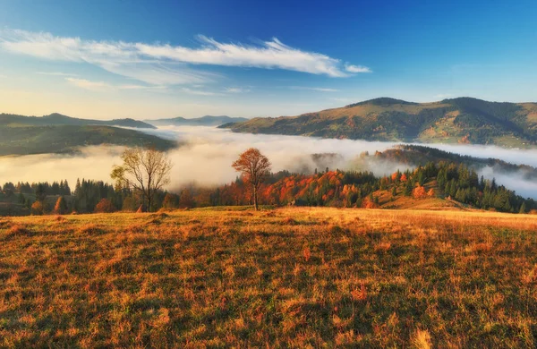
[[[452,98],[413,103],[376,98],[297,116],[257,117],[220,126],[233,132],[423,143],[537,144],[537,103]]]

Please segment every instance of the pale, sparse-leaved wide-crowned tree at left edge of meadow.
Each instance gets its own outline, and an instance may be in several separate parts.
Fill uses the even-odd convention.
[[[156,149],[126,149],[121,158],[123,165],[114,166],[110,176],[116,186],[139,192],[142,204],[147,203],[150,211],[155,192],[170,183],[170,171],[174,165],[166,153]]]

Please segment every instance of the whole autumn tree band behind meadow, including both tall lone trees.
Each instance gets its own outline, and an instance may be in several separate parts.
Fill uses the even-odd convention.
[[[314,174],[272,173],[259,149],[248,149],[232,164],[239,173],[233,183],[216,188],[190,186],[166,192],[172,164],[165,153],[129,149],[124,164],[115,166],[115,183],[78,180],[71,192],[59,183],[5,183],[3,191],[18,193],[33,214],[90,213],[116,210],[145,211],[206,206],[252,205],[327,206],[338,208],[389,207],[400,197],[442,198],[477,209],[527,213],[537,209],[532,199],[479,177],[469,166],[450,161],[429,162],[413,170],[375,176],[368,171],[315,170]],[[47,200],[52,196],[55,202]],[[33,200],[33,202],[31,202]]]

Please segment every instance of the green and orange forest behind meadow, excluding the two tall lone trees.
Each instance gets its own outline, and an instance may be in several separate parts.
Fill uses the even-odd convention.
[[[391,175],[371,172],[315,170],[314,174],[280,171],[260,185],[261,205],[336,208],[382,208],[390,201],[439,198],[468,208],[527,213],[537,209],[526,199],[488,180],[464,164],[428,162],[424,166]],[[0,201],[11,202],[16,215],[136,211],[141,198],[128,188],[102,181],[78,180],[72,191],[67,181],[54,183],[4,183]],[[177,192],[158,191],[150,210],[192,209],[209,206],[251,205],[251,187],[237,177],[233,183],[208,188],[194,184]],[[13,214],[13,211],[11,212]]]

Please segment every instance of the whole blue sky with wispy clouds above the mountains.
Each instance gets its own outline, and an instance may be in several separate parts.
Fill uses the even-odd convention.
[[[379,97],[537,102],[535,18],[534,0],[0,0],[0,113],[254,117]]]

